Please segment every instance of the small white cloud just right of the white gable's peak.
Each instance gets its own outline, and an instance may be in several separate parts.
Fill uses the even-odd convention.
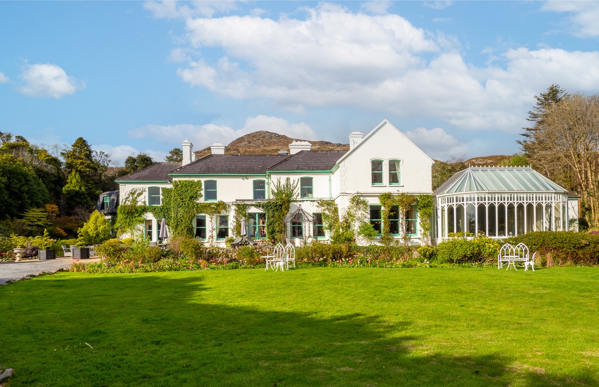
[[[448,160],[453,156],[459,157],[468,152],[466,144],[460,143],[441,128],[416,128],[405,134],[433,159]]]

